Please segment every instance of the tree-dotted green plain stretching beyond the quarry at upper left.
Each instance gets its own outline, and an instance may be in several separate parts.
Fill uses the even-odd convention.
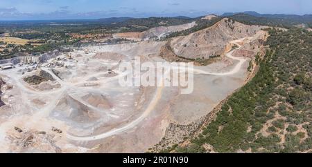
[[[71,35],[108,35],[117,32],[142,32],[157,26],[174,26],[190,23],[195,19],[188,17],[150,17],[150,18],[109,18],[99,20],[69,20],[69,21],[7,21],[0,23],[0,32],[8,32],[10,37],[36,40],[45,43],[42,46],[7,46],[6,52],[1,52],[0,59],[15,57],[19,52],[47,52],[60,49],[62,46],[81,46],[80,37]],[[1,34],[1,33],[0,33]],[[101,37],[100,37],[101,38]],[[83,37],[82,37],[83,39]],[[117,39],[117,42],[123,39]],[[125,40],[123,40],[125,41]],[[108,43],[114,43],[107,41]],[[34,43],[34,42],[33,42]]]

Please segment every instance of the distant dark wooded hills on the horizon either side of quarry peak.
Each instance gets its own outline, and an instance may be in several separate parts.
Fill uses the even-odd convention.
[[[225,12],[219,17],[230,17],[244,23],[261,24],[267,26],[297,26],[303,24],[304,26],[312,26],[312,14],[297,15],[297,14],[260,14],[254,11],[245,12]],[[168,22],[166,26],[177,25],[179,23],[187,23],[190,21],[197,21],[202,17],[149,17],[149,18],[132,18],[132,17],[111,17],[106,19],[98,19],[104,24],[119,23],[121,26],[128,24],[155,27],[155,23],[159,21]],[[125,24],[125,25],[123,25]]]

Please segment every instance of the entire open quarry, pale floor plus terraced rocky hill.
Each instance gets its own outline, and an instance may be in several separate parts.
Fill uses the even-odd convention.
[[[152,39],[193,26],[116,34],[135,42],[8,60],[0,71],[0,152],[144,153],[182,141],[254,75],[250,64],[264,54],[268,37],[266,26],[222,19],[170,41]],[[135,66],[135,57],[156,64],[216,55],[205,66],[194,62],[188,94],[183,86],[164,86],[164,77],[157,86],[119,84],[128,75],[119,66]]]

